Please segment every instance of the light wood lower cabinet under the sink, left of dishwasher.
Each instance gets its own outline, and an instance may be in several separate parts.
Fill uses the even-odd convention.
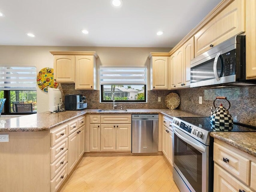
[[[90,115],[90,151],[131,151],[131,115]]]

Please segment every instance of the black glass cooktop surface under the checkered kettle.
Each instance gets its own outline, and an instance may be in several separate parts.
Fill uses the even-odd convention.
[[[179,117],[179,119],[209,132],[216,132],[211,128],[210,117]],[[232,130],[228,132],[256,132],[256,127],[234,122]]]

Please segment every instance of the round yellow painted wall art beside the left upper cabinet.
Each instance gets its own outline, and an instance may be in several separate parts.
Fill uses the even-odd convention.
[[[54,82],[53,68],[46,67],[41,69],[36,78],[38,87],[44,92],[48,92],[48,88],[57,88],[58,83]]]

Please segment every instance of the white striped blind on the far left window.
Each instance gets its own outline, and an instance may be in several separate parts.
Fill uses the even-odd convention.
[[[0,90],[36,90],[36,67],[0,67]]]

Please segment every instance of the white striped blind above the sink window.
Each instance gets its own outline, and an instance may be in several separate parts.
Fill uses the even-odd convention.
[[[146,85],[146,68],[100,68],[101,85]]]

